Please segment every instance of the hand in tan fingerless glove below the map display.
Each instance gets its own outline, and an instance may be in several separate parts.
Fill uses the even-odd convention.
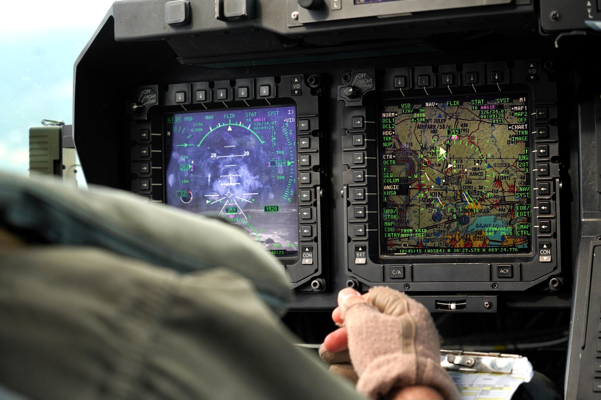
[[[332,318],[344,326],[326,337],[320,355],[336,360],[331,354],[338,353],[344,361],[348,349],[359,392],[378,398],[393,388],[423,385],[447,400],[460,398],[440,365],[438,331],[421,303],[381,286],[367,295],[343,289]]]

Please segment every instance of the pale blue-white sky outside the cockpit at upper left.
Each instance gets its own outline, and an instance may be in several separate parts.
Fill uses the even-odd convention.
[[[4,5],[4,15],[27,17],[0,24],[0,171],[27,174],[30,126],[43,118],[72,123],[73,64],[112,2]]]

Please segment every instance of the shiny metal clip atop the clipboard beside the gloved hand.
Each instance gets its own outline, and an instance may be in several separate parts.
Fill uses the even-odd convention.
[[[441,366],[448,371],[511,374],[513,363],[520,358],[516,354],[441,350]]]

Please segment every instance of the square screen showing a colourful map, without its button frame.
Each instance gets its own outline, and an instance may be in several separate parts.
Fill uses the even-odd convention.
[[[382,103],[382,255],[530,251],[527,105],[525,94]]]

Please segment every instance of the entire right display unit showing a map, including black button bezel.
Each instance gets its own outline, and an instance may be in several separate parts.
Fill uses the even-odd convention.
[[[538,65],[342,77],[349,279],[513,291],[560,270],[557,89]]]

